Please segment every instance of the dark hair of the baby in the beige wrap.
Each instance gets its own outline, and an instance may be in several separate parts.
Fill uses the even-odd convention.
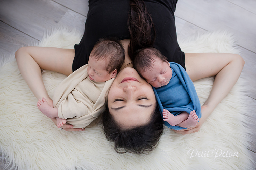
[[[90,57],[96,58],[97,61],[106,59],[105,69],[108,73],[115,69],[119,72],[125,61],[125,50],[118,39],[102,38],[94,45]]]

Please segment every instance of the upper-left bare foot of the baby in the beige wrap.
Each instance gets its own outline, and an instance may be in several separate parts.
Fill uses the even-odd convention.
[[[48,102],[46,101],[45,98],[42,98],[38,100],[37,102],[37,108],[39,108],[39,110],[45,114],[47,117],[49,118],[54,118],[56,117],[56,108],[51,107]],[[58,109],[57,109],[57,114],[58,114]]]

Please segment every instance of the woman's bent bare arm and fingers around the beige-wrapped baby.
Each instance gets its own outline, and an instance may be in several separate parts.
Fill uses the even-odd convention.
[[[41,69],[69,75],[72,73],[74,56],[74,49],[53,47],[22,47],[15,53],[19,71],[33,94],[38,100],[42,97],[46,98],[51,107],[53,107],[53,101],[45,89]],[[53,118],[52,121],[56,125],[56,119]],[[66,131],[82,130],[73,128],[72,125],[64,125],[63,129]]]

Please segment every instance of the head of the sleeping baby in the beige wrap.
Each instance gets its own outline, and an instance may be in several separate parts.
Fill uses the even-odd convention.
[[[125,50],[119,40],[100,39],[89,56],[88,74],[95,82],[105,82],[114,78],[125,60]]]

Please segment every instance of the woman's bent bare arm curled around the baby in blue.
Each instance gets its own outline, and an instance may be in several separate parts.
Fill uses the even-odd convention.
[[[192,81],[215,76],[212,90],[208,99],[201,107],[202,117],[197,125],[185,130],[174,130],[180,134],[198,132],[204,121],[213,112],[215,107],[224,99],[231,88],[236,84],[244,60],[240,55],[228,53],[186,53],[186,71]]]

